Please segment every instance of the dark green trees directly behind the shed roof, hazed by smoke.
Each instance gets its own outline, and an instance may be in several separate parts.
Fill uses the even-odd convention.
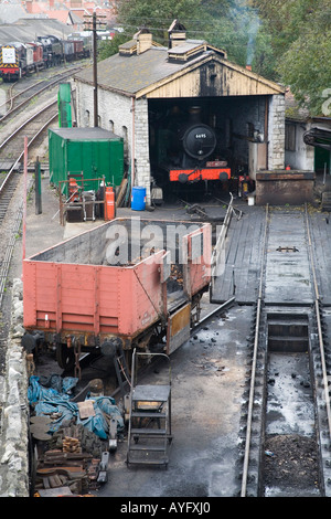
[[[250,64],[255,72],[275,80],[280,51],[275,44],[277,32],[270,30],[267,17],[276,12],[278,27],[285,27],[286,1],[299,0],[270,0],[270,4],[267,0],[153,0],[152,4],[150,0],[118,0],[118,23],[124,33],[109,44],[109,50],[105,44],[102,55],[117,52],[117,44],[130,40],[141,27],[167,45],[168,29],[178,19],[185,25],[188,38],[205,40],[226,51],[229,61],[243,66]]]

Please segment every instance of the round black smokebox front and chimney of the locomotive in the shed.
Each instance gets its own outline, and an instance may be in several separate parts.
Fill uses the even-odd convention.
[[[183,129],[182,142],[184,151],[196,160],[205,160],[216,147],[216,135],[207,125],[201,123],[201,108],[190,109],[190,120]]]

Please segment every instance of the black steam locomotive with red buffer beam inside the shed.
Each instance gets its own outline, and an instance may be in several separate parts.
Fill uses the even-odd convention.
[[[172,110],[152,134],[151,157],[158,184],[164,186],[164,173],[168,181],[180,184],[224,182],[231,178],[227,161],[220,159],[216,131],[201,120],[200,107],[190,108],[188,120]]]

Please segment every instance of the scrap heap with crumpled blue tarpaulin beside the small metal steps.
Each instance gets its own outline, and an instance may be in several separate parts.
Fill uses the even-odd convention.
[[[90,496],[107,481],[109,452],[121,437],[122,415],[110,396],[88,394],[84,402],[73,402],[75,383],[55,375],[45,388],[38,377],[30,378],[34,496]]]

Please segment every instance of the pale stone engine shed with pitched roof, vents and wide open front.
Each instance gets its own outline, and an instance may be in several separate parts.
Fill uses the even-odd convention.
[[[96,126],[93,66],[75,84],[77,126]],[[164,120],[186,120],[192,107],[217,131],[214,159],[226,161],[233,177],[246,170],[255,180],[258,169],[285,168],[285,89],[205,41],[188,40],[177,21],[168,46],[141,30],[99,62],[97,85],[97,125],[124,138],[131,183],[146,188],[148,202],[152,180],[160,180],[164,134],[158,129]]]

